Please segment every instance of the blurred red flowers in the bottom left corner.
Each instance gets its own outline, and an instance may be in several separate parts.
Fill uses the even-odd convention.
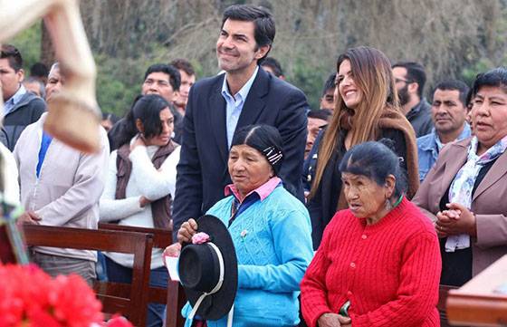
[[[78,275],[52,279],[35,265],[0,264],[0,327],[90,327],[101,303]]]

